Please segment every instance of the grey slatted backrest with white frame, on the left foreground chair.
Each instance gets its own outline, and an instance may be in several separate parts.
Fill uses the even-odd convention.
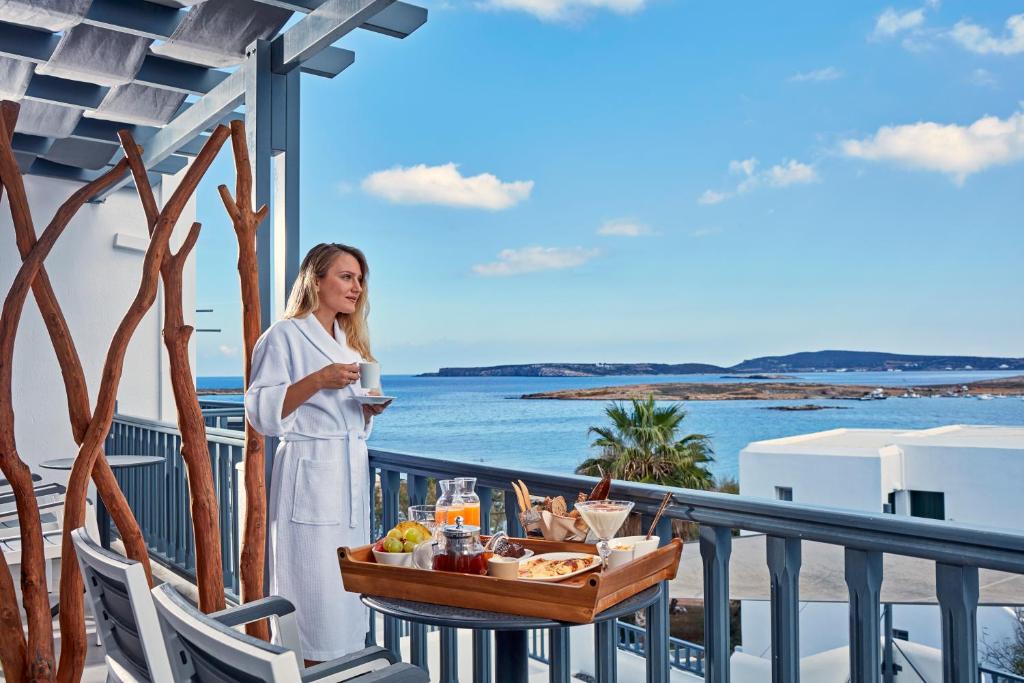
[[[103,550],[85,528],[71,538],[106,656],[139,681],[174,681],[142,565]]]

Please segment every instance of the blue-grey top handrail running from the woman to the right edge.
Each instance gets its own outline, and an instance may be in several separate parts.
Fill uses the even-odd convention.
[[[565,495],[580,488],[581,483],[597,482],[595,477],[579,474],[524,472],[376,449],[370,451],[370,458],[375,466],[385,469],[423,476],[475,476],[478,484],[499,488],[508,488],[511,480],[521,478],[531,492],[545,495]],[[674,500],[666,510],[670,518],[1024,573],[1024,535],[1013,531],[656,484],[627,481],[614,484],[615,496],[635,500],[635,509],[648,514],[657,509],[668,490],[673,492]]]

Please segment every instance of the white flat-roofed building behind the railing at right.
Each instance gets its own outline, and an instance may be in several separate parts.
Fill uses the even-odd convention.
[[[834,429],[754,441],[739,454],[741,496],[1024,529],[1024,427]],[[883,580],[884,581],[884,580]],[[848,608],[801,604],[801,655],[847,645]],[[743,651],[770,652],[770,605],[743,601]],[[894,606],[910,641],[941,647],[938,607]],[[981,638],[1010,634],[1013,613],[978,609]]]

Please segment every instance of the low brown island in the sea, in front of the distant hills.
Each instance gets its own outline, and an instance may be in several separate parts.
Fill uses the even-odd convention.
[[[992,398],[1024,396],[1024,375],[968,384],[922,384],[919,386],[868,386],[863,384],[821,384],[811,382],[660,382],[624,386],[591,387],[527,393],[521,398],[562,400],[810,400],[884,398],[929,398],[937,396]],[[812,409],[801,409],[812,410]]]

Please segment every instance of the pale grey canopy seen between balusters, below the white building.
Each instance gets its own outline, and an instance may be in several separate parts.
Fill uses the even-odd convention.
[[[801,545],[800,599],[803,602],[848,602],[841,546],[805,541]],[[732,600],[770,600],[765,537],[732,540],[729,560],[729,597]],[[1024,575],[980,569],[979,604],[1024,605]],[[703,567],[696,543],[683,547],[679,573],[669,593],[681,600],[703,600]],[[883,560],[882,602],[890,604],[937,604],[935,563],[916,557],[886,555]]]

